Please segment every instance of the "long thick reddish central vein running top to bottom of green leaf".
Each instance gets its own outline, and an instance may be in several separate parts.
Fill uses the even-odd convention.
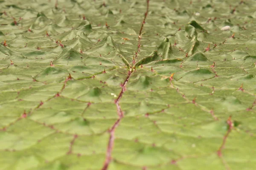
[[[143,30],[143,26],[145,24],[145,20],[146,17],[148,15],[148,8],[149,8],[149,0],[147,0],[147,9],[145,12],[145,16],[143,19],[143,22],[141,24],[140,27],[140,33],[139,33],[139,40],[138,40],[138,48],[137,48],[137,52],[135,52],[135,57],[137,57],[138,53],[140,52],[140,40],[141,40],[141,33]],[[135,63],[135,59],[133,59],[133,64]],[[128,71],[128,76],[125,79],[125,82],[123,84],[121,84],[122,90],[120,91],[119,95],[117,96],[116,100],[115,100],[115,104],[116,104],[116,108],[117,108],[117,114],[119,116],[119,119],[116,120],[116,122],[114,123],[114,125],[111,127],[110,129],[110,136],[109,136],[109,141],[108,141],[108,147],[107,147],[107,152],[106,152],[106,158],[105,158],[105,162],[103,164],[102,170],[107,170],[108,169],[108,165],[111,162],[111,153],[113,150],[113,145],[114,145],[114,140],[115,140],[115,130],[116,127],[119,125],[121,119],[124,117],[124,113],[122,112],[121,106],[119,105],[119,101],[122,98],[123,93],[126,90],[126,84],[128,82],[128,79],[130,78],[131,74],[133,71]]]

